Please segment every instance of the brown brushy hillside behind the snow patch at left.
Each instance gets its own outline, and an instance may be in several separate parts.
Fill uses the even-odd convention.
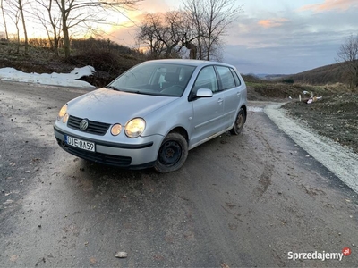
[[[72,56],[65,60],[64,54],[55,56],[48,47],[40,46],[32,40],[29,53],[24,54],[24,47],[15,42],[0,42],[0,68],[13,67],[24,72],[52,73],[70,72],[75,67],[93,66],[96,73],[85,78],[96,87],[103,87],[118,75],[137,63],[147,60],[136,49],[121,46],[106,40],[78,39],[72,40]]]

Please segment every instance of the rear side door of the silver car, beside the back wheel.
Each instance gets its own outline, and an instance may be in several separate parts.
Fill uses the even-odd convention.
[[[233,69],[226,66],[216,66],[216,69],[219,79],[219,91],[222,92],[224,100],[223,121],[225,121],[225,128],[228,128],[233,124],[236,117],[243,87],[237,76],[237,79],[235,79]]]

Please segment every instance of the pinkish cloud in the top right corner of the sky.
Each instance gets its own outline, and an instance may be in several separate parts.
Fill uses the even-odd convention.
[[[357,0],[325,0],[321,4],[307,4],[301,7],[300,11],[311,10],[316,13],[340,10],[346,11],[354,6],[358,6]]]

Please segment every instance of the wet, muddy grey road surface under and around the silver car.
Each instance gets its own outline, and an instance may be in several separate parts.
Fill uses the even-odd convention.
[[[0,80],[0,266],[358,263],[356,193],[268,119],[267,103],[251,102],[241,136],[215,138],[158,174],[56,145],[58,109],[88,90]],[[289,259],[344,247],[352,253],[341,261]]]

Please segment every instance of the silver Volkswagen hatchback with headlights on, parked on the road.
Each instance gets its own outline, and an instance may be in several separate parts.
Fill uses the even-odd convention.
[[[65,104],[55,138],[83,159],[173,172],[193,147],[228,130],[239,134],[246,111],[246,86],[234,66],[148,61]]]

